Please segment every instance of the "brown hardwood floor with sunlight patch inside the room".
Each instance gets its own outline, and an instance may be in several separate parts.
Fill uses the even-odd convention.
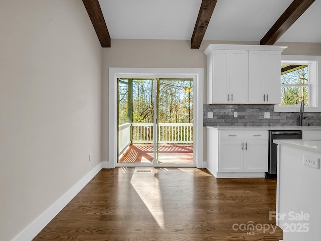
[[[280,228],[257,230],[275,228],[275,193],[275,180],[216,179],[206,169],[103,169],[33,240],[278,241]]]

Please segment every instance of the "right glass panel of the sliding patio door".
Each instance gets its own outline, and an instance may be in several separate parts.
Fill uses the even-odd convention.
[[[157,87],[157,163],[193,164],[193,79],[157,79]]]

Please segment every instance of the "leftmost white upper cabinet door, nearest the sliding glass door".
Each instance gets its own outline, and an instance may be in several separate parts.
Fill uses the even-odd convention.
[[[209,77],[211,78],[211,77]],[[230,51],[213,50],[212,103],[228,103],[230,91]],[[209,103],[209,104],[212,104]]]

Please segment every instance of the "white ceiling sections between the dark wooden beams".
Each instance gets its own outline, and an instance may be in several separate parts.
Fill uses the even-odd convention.
[[[218,0],[204,40],[260,41],[293,0]],[[99,0],[112,39],[191,39],[202,0]],[[321,0],[278,40],[321,43]]]

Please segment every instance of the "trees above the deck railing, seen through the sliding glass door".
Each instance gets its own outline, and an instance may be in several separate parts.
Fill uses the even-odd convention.
[[[153,122],[153,80],[132,81],[133,122]],[[128,80],[118,82],[119,124],[128,122]],[[193,121],[193,81],[158,80],[158,121],[161,123],[191,123]]]

